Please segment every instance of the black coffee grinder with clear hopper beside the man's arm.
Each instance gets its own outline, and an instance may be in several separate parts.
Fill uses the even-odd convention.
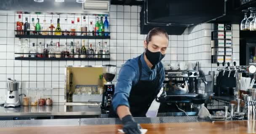
[[[103,87],[103,95],[102,95],[102,102],[101,108],[104,111],[109,111],[112,104],[112,98],[115,92],[115,85],[112,84],[112,80],[115,78],[116,74],[116,66],[115,65],[104,65],[103,66],[103,77],[107,81]]]

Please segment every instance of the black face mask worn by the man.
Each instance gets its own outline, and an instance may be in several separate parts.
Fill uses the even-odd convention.
[[[146,49],[145,54],[147,59],[153,66],[160,62],[163,57],[165,57],[165,54],[161,54],[161,52],[150,52],[148,49]]]

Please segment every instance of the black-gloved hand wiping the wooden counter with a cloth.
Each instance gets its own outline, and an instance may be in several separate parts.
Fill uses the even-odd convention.
[[[141,134],[141,126],[137,124],[133,116],[127,115],[122,118],[123,131],[125,134]]]

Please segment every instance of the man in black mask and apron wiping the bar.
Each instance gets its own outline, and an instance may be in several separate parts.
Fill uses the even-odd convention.
[[[153,28],[144,40],[145,52],[125,62],[119,72],[110,115],[118,115],[126,134],[140,134],[141,126],[133,117],[145,117],[162,88],[165,72],[160,61],[165,57],[168,40],[164,29]]]

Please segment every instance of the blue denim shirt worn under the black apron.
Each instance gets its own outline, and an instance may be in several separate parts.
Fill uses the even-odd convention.
[[[162,88],[163,80],[165,77],[164,67],[161,62],[156,64],[155,68],[150,69],[144,60],[144,53],[139,57],[129,59],[123,64],[117,78],[115,85],[115,93],[112,100],[114,110],[118,106],[129,106],[128,97],[132,86],[136,85],[139,81],[139,60],[141,60],[141,80],[154,80],[157,73],[160,73],[159,90]]]

